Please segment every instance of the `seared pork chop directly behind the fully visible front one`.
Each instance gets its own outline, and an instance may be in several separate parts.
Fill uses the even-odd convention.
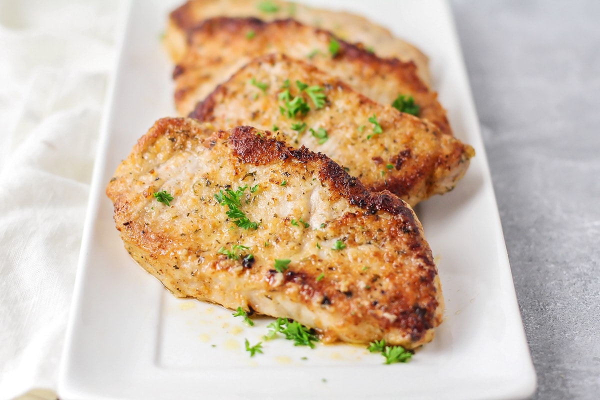
[[[297,82],[320,88],[316,93],[325,97],[322,107],[317,108]],[[293,118],[281,113],[284,91],[304,99],[310,111]],[[366,187],[389,190],[412,206],[452,190],[474,154],[469,145],[440,133],[435,125],[381,106],[312,65],[284,55],[254,59],[197,104],[190,116],[223,129],[250,124],[280,130],[287,143],[325,153]],[[373,116],[380,134],[369,121]]]

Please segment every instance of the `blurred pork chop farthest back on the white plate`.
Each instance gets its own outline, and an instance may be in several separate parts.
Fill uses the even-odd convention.
[[[413,61],[421,80],[430,83],[428,59],[419,49],[395,38],[388,29],[365,17],[345,11],[323,10],[288,1],[273,0],[268,9],[263,0],[190,0],[169,14],[164,43],[174,62],[187,50],[187,32],[214,17],[257,17],[263,21],[292,18],[305,25],[332,32],[349,43],[362,43],[380,57]]]

